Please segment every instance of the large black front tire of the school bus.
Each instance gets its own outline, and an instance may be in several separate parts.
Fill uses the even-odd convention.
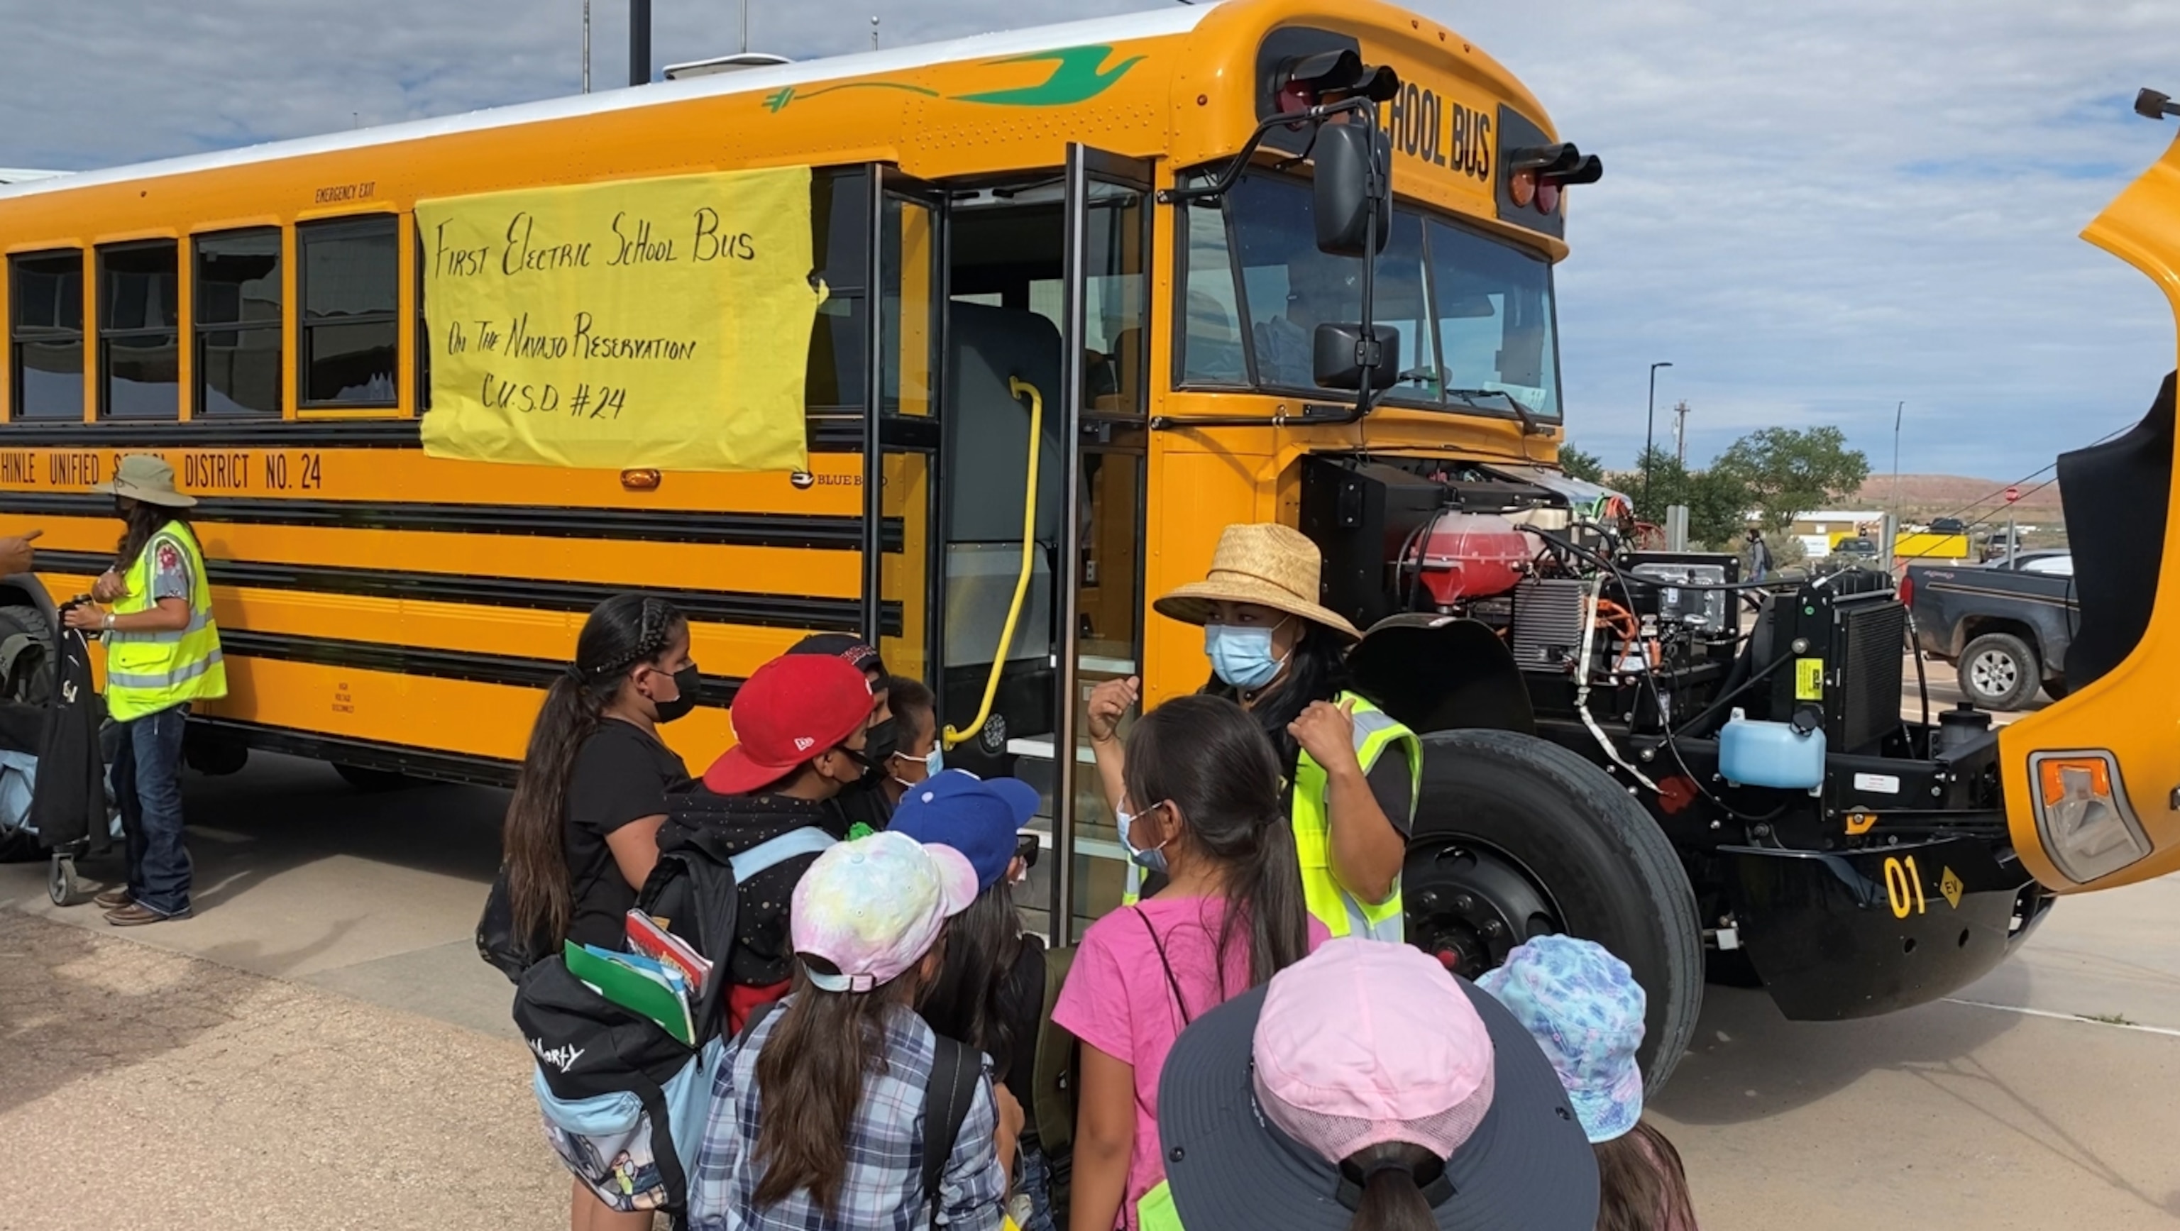
[[[1666,1085],[1703,1009],[1703,933],[1681,856],[1602,769],[1535,736],[1424,736],[1402,872],[1408,941],[1467,978],[1548,933],[1587,937],[1648,996],[1644,1087]]]

